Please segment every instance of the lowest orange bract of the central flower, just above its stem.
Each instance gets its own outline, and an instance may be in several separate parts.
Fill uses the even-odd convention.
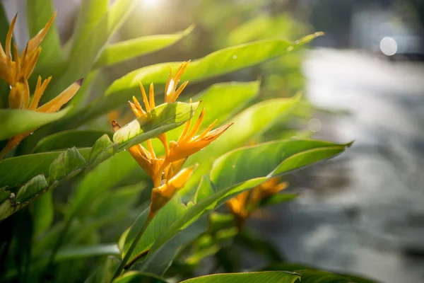
[[[159,211],[162,207],[169,202],[174,195],[184,187],[185,183],[189,180],[190,176],[192,175],[194,169],[196,169],[196,165],[190,166],[188,168],[182,169],[182,171],[179,171],[177,175],[173,176],[168,180],[166,183],[161,185],[160,187],[155,187],[152,190],[151,195],[151,208],[150,212],[151,214],[155,214]]]

